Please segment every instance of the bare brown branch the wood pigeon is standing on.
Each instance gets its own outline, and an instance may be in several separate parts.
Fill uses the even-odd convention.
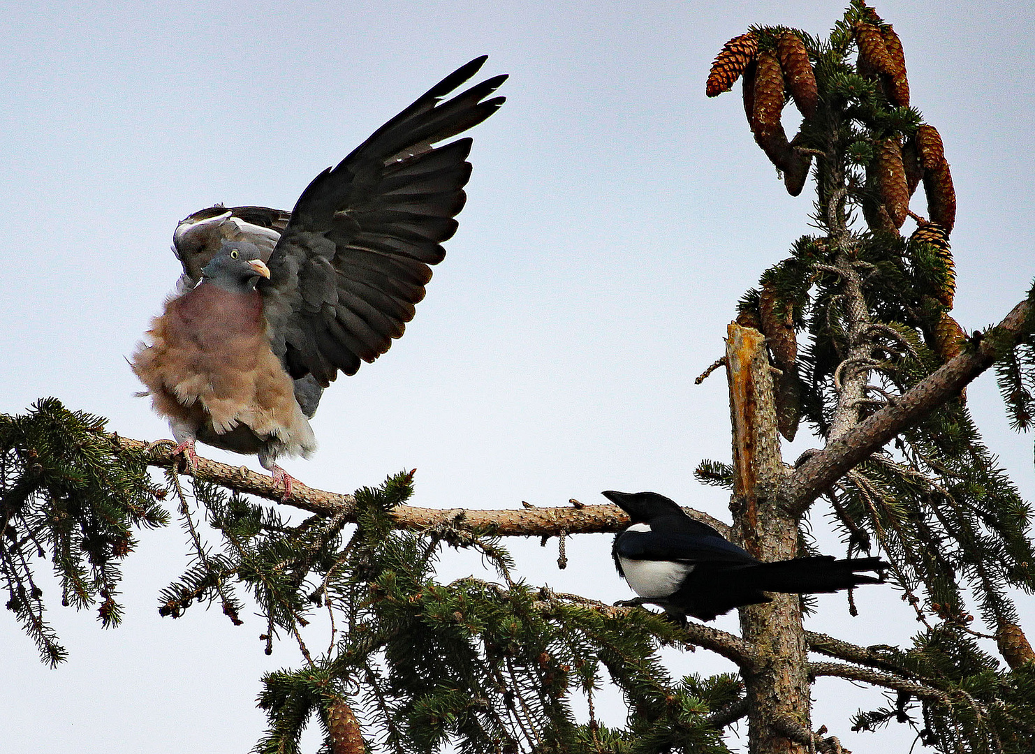
[[[292,484],[291,495],[285,497],[284,488],[274,485],[272,478],[247,466],[232,466],[209,458],[198,458],[191,471],[181,456],[173,455],[169,442],[145,443],[140,440],[113,435],[119,447],[143,452],[148,464],[169,469],[178,463],[180,472],[205,482],[212,482],[245,494],[254,494],[276,503],[299,508],[319,516],[343,516],[355,522],[356,501],[351,494],[328,492],[307,487],[301,482]],[[693,518],[704,521],[722,533],[729,526],[707,513],[685,509]],[[468,508],[438,509],[415,506],[396,506],[389,515],[398,529],[422,531],[448,521],[459,529],[494,534],[500,537],[561,537],[571,534],[597,534],[621,532],[629,519],[618,506],[572,505],[551,508],[522,508],[519,510],[472,510]]]

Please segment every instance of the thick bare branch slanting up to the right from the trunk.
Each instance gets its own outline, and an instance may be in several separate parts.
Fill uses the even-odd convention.
[[[965,349],[912,390],[889,401],[822,451],[812,454],[780,485],[785,505],[804,511],[850,469],[880,449],[903,429],[916,424],[959,394],[970,382],[1012,348],[1025,332],[1031,302],[1022,301],[988,332],[976,349]]]

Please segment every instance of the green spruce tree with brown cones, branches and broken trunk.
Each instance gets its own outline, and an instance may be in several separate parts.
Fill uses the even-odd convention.
[[[953,319],[945,147],[911,104],[901,42],[873,8],[854,0],[827,39],[749,29],[722,48],[707,94],[737,81],[787,190],[799,194],[815,176],[816,233],[737,304],[720,364],[732,463],[698,469],[731,489],[733,523],[691,515],[765,561],[807,553],[808,526],[832,521],[849,554],[891,563],[921,627],[912,643],[858,646],[806,631],[797,596],[742,608],[737,636],[514,576],[506,537],[563,547],[566,537],[618,532],[625,519],[612,506],[435,511],[409,505],[408,473],[354,494],[298,485],[282,500],[265,476],[205,459],[188,470],[169,444],[120,438],[45,399],[0,418],[0,571],[7,608],[45,662],[65,652],[34,581],[41,564],[59,574],[65,605],[95,606],[117,624],[134,527],[175,516],[195,556],[160,595],[160,613],[216,603],[238,622],[254,604],[267,652],[286,639],[305,659],[262,680],[260,752],[298,751],[307,725],[322,726],[332,754],[724,752],[723,729],[744,718],[752,754],[842,751],[839,731],[810,719],[819,676],[888,693],[887,705],[855,716],[855,730],[911,725],[946,754],[1035,749],[1035,654],[1013,601],[1035,587],[1030,509],[983,445],[965,392],[995,365],[1015,427],[1030,428],[1032,301],[970,333]],[[792,139],[780,120],[788,95],[802,115]],[[802,430],[822,447],[785,459],[779,436]],[[479,553],[495,575],[442,583],[446,547]],[[329,616],[326,650],[300,631],[316,611]],[[675,677],[663,647],[704,647],[738,672]],[[597,718],[604,684],[624,695],[623,723]],[[588,720],[574,698],[588,702]]]

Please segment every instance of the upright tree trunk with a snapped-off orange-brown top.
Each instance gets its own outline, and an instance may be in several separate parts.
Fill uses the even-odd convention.
[[[733,423],[735,485],[730,507],[734,534],[762,561],[794,557],[798,520],[777,505],[776,489],[787,472],[779,454],[765,338],[757,330],[730,325],[727,374]],[[744,640],[758,653],[757,667],[743,673],[750,711],[750,754],[804,754],[805,745],[781,732],[811,730],[800,598],[774,595],[771,603],[743,607],[740,627]]]

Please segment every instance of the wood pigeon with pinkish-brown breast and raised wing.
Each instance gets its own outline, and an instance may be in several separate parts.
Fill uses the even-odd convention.
[[[503,103],[490,95],[506,76],[442,101],[485,59],[318,175],[291,213],[217,206],[179,223],[183,274],[130,364],[191,464],[196,441],[258,453],[290,494],[277,456],[316,448],[306,418],[322,390],[403,335],[456,232],[472,140],[433,145]]]

